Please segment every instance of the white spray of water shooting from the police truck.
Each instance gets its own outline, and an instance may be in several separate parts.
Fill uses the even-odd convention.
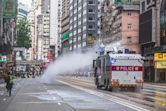
[[[73,74],[86,67],[92,67],[92,61],[95,56],[96,53],[94,50],[90,50],[86,53],[74,52],[65,54],[48,66],[41,80],[43,83],[53,83],[57,75]]]

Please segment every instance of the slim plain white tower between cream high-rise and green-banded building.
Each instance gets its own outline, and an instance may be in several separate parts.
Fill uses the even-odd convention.
[[[52,48],[55,58],[61,52],[61,7],[62,1],[50,1],[50,47]]]

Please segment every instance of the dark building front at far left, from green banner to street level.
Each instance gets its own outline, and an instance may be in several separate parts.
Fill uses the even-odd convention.
[[[17,0],[0,0],[0,72],[6,74],[15,69]],[[7,5],[10,4],[10,5]],[[10,11],[10,13],[9,13]],[[0,74],[0,76],[1,76]]]

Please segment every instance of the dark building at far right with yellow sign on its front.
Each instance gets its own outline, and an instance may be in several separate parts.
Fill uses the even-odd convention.
[[[161,67],[164,60],[157,61],[154,57],[155,54],[166,52],[165,2],[166,0],[140,0],[139,42],[145,57],[146,81],[166,81],[166,71]]]

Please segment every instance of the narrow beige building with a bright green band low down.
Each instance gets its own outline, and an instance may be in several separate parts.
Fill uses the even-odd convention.
[[[69,6],[70,0],[62,0],[62,21],[61,21],[61,51],[69,51]]]

